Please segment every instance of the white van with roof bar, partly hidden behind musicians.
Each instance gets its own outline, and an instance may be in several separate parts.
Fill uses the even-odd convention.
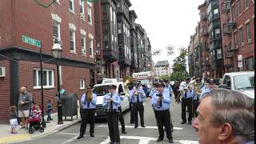
[[[129,95],[126,93],[127,88],[123,82],[107,82],[94,85],[93,93],[97,94],[95,118],[106,118],[106,112],[103,109],[102,102],[104,95],[108,93],[108,86],[110,85],[117,86],[116,93],[120,94],[123,98],[121,101],[122,112],[129,109]]]

